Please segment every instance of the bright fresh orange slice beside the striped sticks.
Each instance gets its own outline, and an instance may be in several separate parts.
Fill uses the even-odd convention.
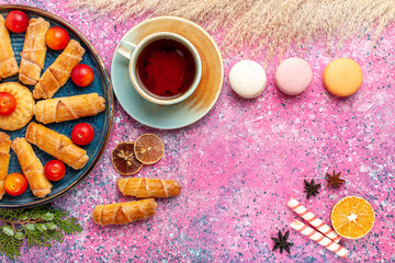
[[[372,229],[374,210],[364,198],[348,196],[334,206],[330,219],[338,235],[348,239],[359,239]]]

